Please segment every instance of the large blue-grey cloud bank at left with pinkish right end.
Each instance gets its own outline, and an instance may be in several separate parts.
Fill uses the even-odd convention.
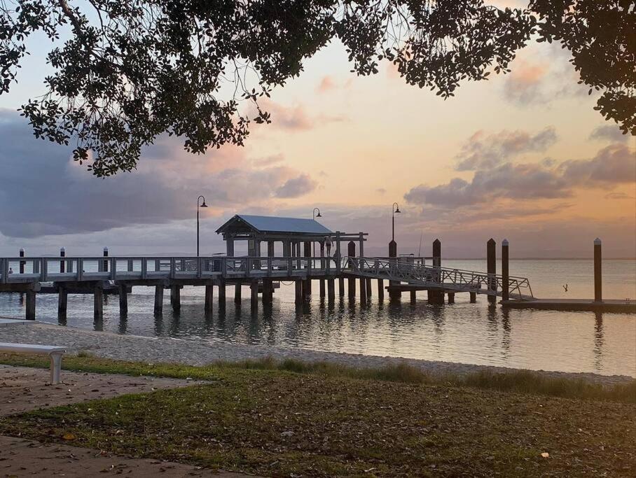
[[[164,139],[144,151],[137,171],[99,179],[71,161],[70,148],[34,139],[6,110],[0,144],[0,233],[8,237],[166,224],[192,218],[200,194],[210,206],[237,209],[277,197],[298,177],[283,166],[253,169],[240,148],[198,156]]]

